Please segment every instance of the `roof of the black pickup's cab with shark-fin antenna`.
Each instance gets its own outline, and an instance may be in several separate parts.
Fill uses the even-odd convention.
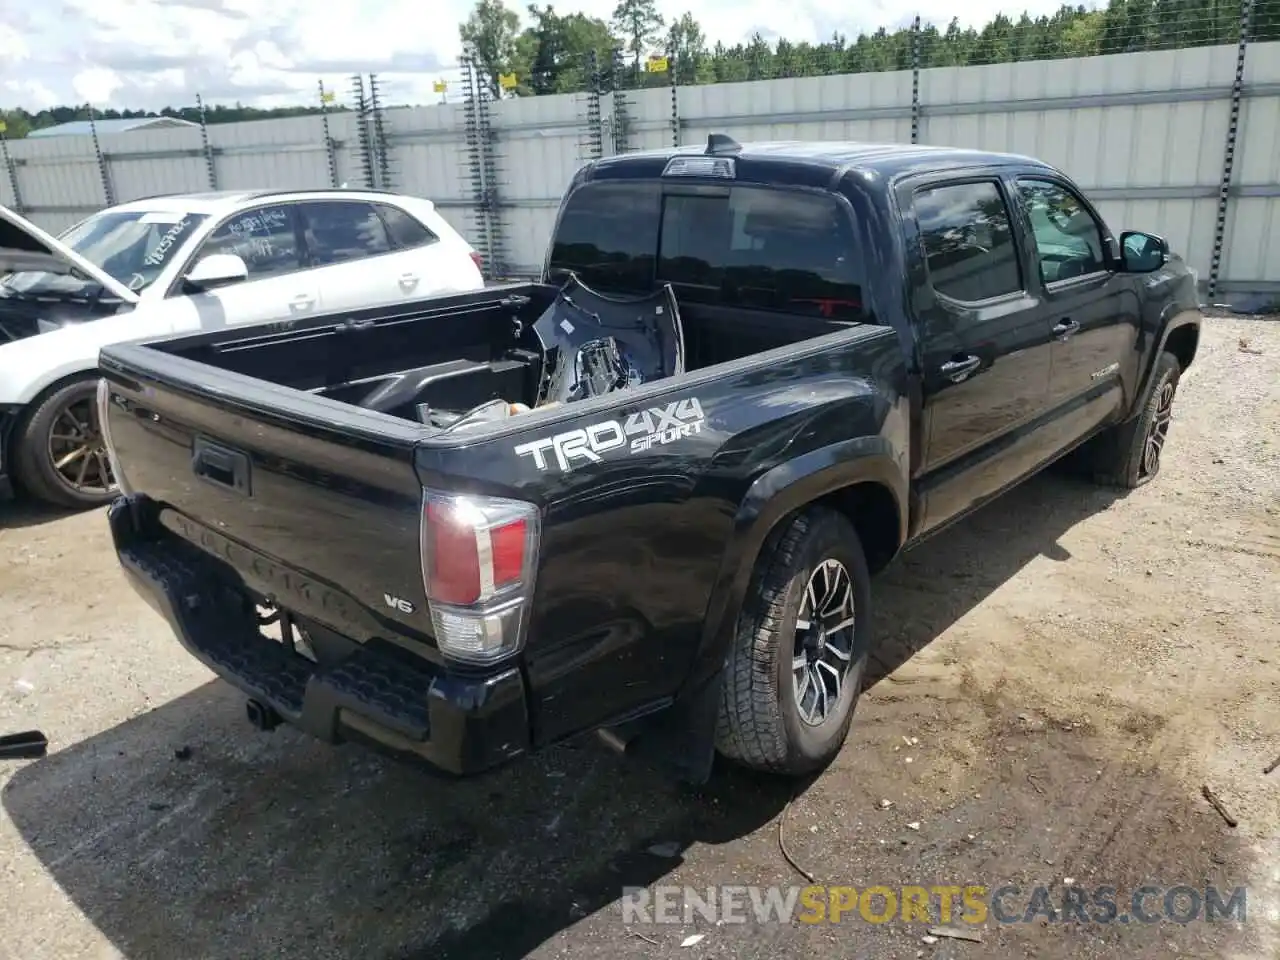
[[[927,170],[938,166],[1038,166],[1053,168],[1042,160],[1018,154],[996,154],[986,150],[925,146],[922,143],[863,143],[858,141],[751,141],[739,143],[722,133],[713,133],[703,146],[645,150],[596,160],[594,166],[611,174],[626,175],[626,168],[636,166],[636,175],[646,175],[655,161],[673,156],[732,156],[755,163],[804,165],[838,170],[876,173],[891,178],[901,173]]]

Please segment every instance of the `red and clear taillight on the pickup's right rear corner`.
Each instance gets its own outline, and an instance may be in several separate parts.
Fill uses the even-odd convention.
[[[521,648],[540,526],[532,503],[424,493],[422,582],[443,654],[492,663]]]

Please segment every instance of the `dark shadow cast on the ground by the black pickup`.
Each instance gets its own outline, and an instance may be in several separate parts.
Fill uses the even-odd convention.
[[[1041,476],[902,557],[873,594],[887,643],[868,685],[1032,559],[1065,558],[1060,536],[1114,499]],[[692,844],[758,841],[776,858],[760,828],[795,791],[724,768],[680,787],[594,744],[449,783],[242,718],[241,698],[209,684],[4,791],[52,881],[132,960],[525,956],[617,910]],[[856,771],[847,754],[837,768]],[[663,842],[672,855],[650,850]]]

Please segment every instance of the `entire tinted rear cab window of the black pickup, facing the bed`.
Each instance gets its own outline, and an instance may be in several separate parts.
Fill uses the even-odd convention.
[[[548,266],[602,292],[671,283],[684,302],[864,319],[850,212],[817,191],[588,183],[564,205]]]

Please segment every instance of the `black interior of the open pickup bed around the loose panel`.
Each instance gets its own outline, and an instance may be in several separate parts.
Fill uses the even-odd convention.
[[[532,406],[541,351],[534,321],[558,287],[513,284],[388,310],[330,315],[285,329],[219,330],[148,349],[275,387],[421,424],[447,424],[492,399]],[[846,329],[846,321],[681,305],[686,369],[700,370]]]

